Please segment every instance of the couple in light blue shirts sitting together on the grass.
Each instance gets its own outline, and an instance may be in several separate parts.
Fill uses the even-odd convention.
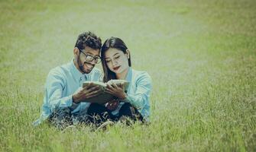
[[[131,54],[125,43],[111,37],[102,46],[94,33],[81,33],[73,49],[74,58],[66,65],[50,70],[45,84],[44,103],[39,125],[44,120],[63,129],[69,125],[86,124],[102,127],[114,122],[148,122],[151,77],[145,71],[131,68]],[[95,65],[102,62],[104,77]],[[115,100],[104,105],[81,102],[99,95],[99,86],[84,81],[121,79],[129,82],[128,91],[108,84],[105,91]]]

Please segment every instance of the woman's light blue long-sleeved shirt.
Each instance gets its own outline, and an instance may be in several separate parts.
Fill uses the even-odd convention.
[[[136,71],[131,67],[128,70],[128,74],[125,78],[129,82],[127,97],[124,102],[131,103],[141,116],[148,122],[150,116],[150,93],[152,90],[151,77],[146,71]],[[120,103],[118,108],[112,112],[114,115],[118,115],[119,109],[124,103]]]

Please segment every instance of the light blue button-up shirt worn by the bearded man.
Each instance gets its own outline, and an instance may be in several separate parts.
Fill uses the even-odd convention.
[[[99,81],[100,76],[98,68],[93,68],[89,74],[82,74],[73,60],[50,70],[45,84],[41,117],[33,125],[39,125],[47,119],[54,109],[70,107],[72,114],[85,112],[90,103],[73,103],[72,95],[81,89],[83,81]]]

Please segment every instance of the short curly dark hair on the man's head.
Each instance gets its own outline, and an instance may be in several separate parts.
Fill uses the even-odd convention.
[[[101,49],[102,40],[100,37],[97,37],[95,33],[84,32],[79,34],[76,40],[76,45],[78,49],[85,49],[86,46],[89,46],[92,49]]]

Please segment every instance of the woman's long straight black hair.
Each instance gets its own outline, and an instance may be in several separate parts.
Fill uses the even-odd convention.
[[[104,82],[107,82],[112,79],[116,79],[115,73],[109,70],[108,65],[105,62],[105,52],[110,48],[118,49],[124,52],[125,54],[127,53],[127,50],[128,50],[125,43],[118,37],[110,37],[109,39],[105,40],[105,43],[103,44],[101,49],[102,68],[104,71],[104,78],[103,78]],[[129,67],[131,67],[131,53],[129,54],[128,65]]]

